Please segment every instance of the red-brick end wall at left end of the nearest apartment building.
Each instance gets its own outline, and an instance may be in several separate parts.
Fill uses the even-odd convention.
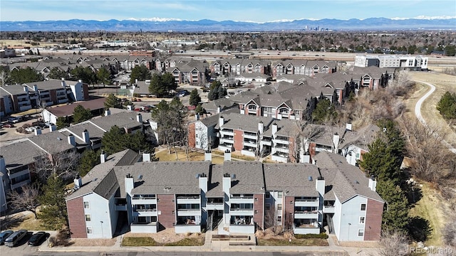
[[[68,210],[71,238],[87,238],[83,197],[66,201],[66,209]]]

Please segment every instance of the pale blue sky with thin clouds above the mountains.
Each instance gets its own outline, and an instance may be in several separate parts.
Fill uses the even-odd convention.
[[[181,19],[278,21],[301,18],[456,18],[456,0],[1,0],[1,21]]]

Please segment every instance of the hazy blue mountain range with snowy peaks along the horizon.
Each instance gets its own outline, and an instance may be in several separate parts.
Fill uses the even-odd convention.
[[[352,18],[339,20],[299,19],[294,21],[271,21],[255,23],[250,21],[142,21],[111,19],[93,21],[71,19],[68,21],[0,21],[1,31],[179,31],[179,32],[246,32],[246,31],[388,31],[388,30],[433,30],[456,28],[456,18],[447,19],[391,19]]]

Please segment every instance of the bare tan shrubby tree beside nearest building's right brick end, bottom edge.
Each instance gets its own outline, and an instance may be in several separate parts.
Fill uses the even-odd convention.
[[[398,231],[382,231],[380,256],[405,256],[409,254],[407,236]]]

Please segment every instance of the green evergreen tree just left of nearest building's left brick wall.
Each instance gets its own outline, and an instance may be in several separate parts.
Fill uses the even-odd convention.
[[[43,228],[59,230],[68,225],[68,213],[65,201],[65,183],[57,176],[48,178],[40,196],[41,210],[37,214]]]

